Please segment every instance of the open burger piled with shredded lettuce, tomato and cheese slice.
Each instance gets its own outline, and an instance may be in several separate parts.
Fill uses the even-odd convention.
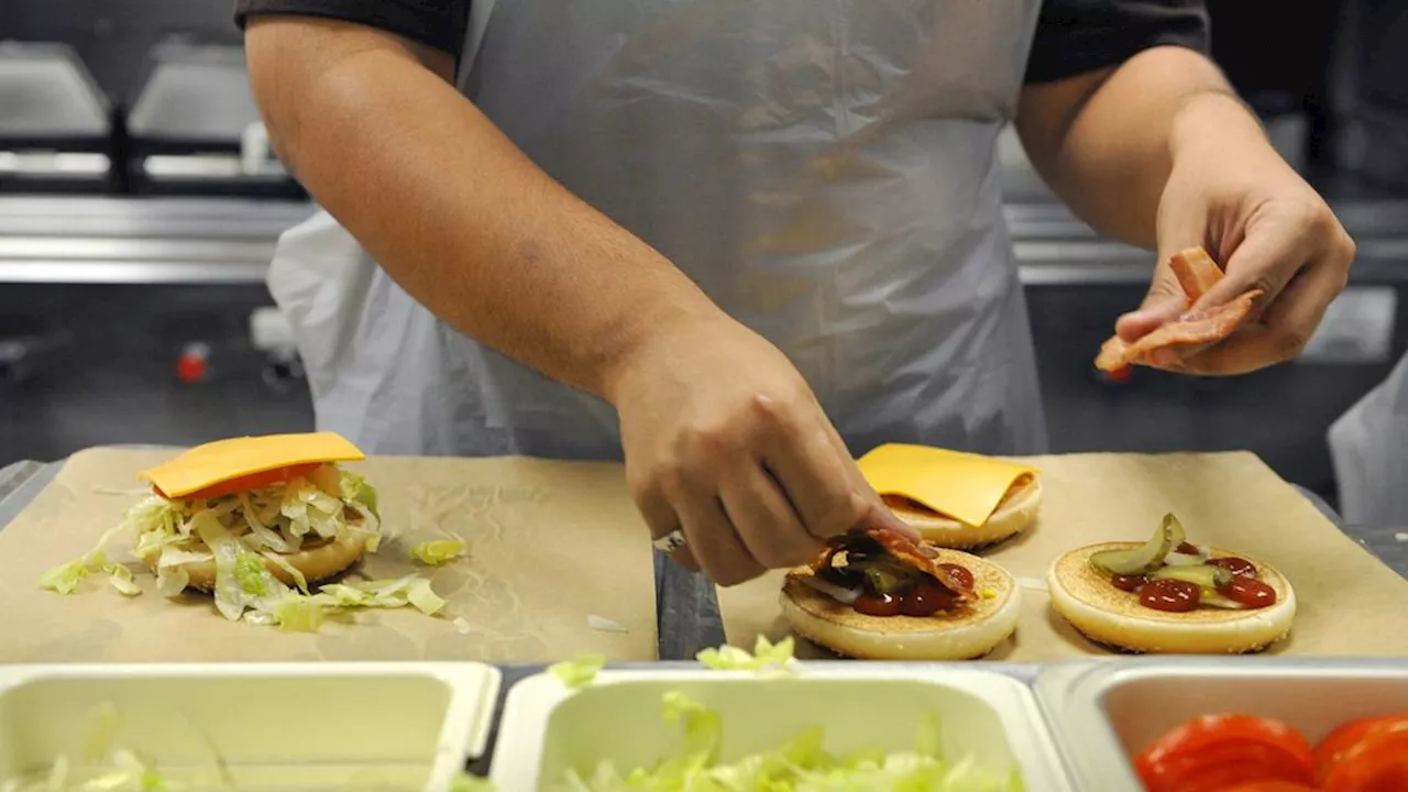
[[[131,572],[103,551],[113,536],[135,537],[132,555],[156,575],[156,590],[214,595],[227,619],[315,629],[324,607],[401,607],[425,613],[444,600],[414,575],[329,583],[376,552],[382,538],[376,490],[342,468],[365,459],[332,433],[237,437],[190,448],[142,471],[153,495],[134,505],[83,558],[51,569],[41,585],[61,593],[94,571],[141,593]],[[296,590],[294,590],[296,589]]]

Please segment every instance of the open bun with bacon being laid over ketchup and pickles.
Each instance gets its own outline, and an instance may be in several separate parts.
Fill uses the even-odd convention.
[[[1017,630],[1021,592],[997,564],[869,528],[790,571],[781,609],[794,633],[845,657],[972,660]]]

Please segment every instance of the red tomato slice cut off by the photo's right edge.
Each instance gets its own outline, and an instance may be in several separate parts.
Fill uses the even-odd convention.
[[[1325,792],[1408,789],[1408,716],[1363,719],[1326,737],[1316,757]]]

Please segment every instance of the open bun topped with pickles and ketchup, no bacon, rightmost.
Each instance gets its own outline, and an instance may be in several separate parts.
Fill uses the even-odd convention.
[[[1073,550],[1048,574],[1052,607],[1095,643],[1135,652],[1240,654],[1291,631],[1295,590],[1274,567],[1191,544],[1164,516],[1146,543]]]

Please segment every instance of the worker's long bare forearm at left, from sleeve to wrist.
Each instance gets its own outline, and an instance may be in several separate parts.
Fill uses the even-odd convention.
[[[339,44],[310,49],[310,37]],[[272,21],[253,25],[246,47],[270,137],[298,179],[391,278],[467,335],[605,395],[662,323],[721,316],[389,37]]]

